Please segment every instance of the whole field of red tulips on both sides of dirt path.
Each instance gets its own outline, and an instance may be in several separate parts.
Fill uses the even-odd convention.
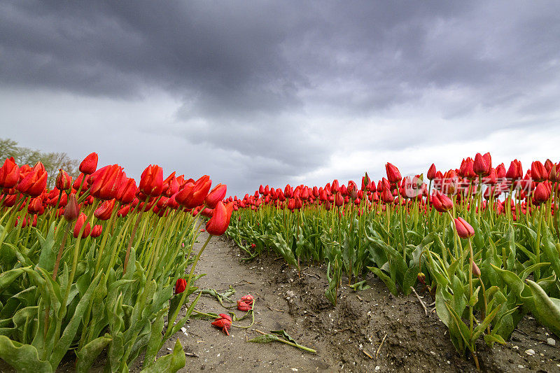
[[[402,177],[387,163],[380,181],[260,185],[238,198],[209,176],[164,179],[149,165],[137,183],[97,160],[87,155],[75,178],[60,169],[52,189],[41,162],[0,168],[0,360],[20,372],[54,372],[68,359],[77,372],[100,360],[127,372],[140,358],[144,372],[176,372],[186,365],[179,339],[158,353],[190,318],[211,319],[223,337],[250,328],[253,295],[237,300],[249,326],[195,308],[202,295],[235,307],[223,304],[231,286],[196,285],[204,249],[222,234],[246,262],[272,254],[299,276],[325,265],[330,307],[342,286],[360,291],[374,278],[395,296],[414,293],[478,369],[477,342],[506,344],[528,314],[560,337],[560,163],[524,173],[518,160],[493,167],[477,153],[458,169]],[[260,333],[250,342],[316,353],[284,330]]]

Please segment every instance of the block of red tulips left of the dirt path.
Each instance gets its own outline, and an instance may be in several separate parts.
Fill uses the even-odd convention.
[[[61,169],[52,190],[41,162],[8,158],[0,168],[0,358],[52,372],[73,351],[87,372],[106,351],[106,370],[123,372],[145,353],[146,371],[174,372],[185,364],[179,339],[155,357],[188,320],[198,297],[178,316],[197,289],[195,266],[227,230],[233,204],[223,203],[225,185],[210,190],[209,176],[164,179],[150,165],[137,185],[97,160],[85,157],[75,181]],[[194,253],[202,216],[209,238]]]

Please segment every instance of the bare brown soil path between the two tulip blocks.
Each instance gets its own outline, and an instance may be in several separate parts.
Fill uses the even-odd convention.
[[[199,241],[206,238],[202,233]],[[200,245],[195,244],[195,250]],[[304,268],[299,278],[281,259],[263,256],[246,262],[243,258],[229,239],[214,237],[197,265],[197,272],[207,275],[196,284],[218,293],[232,285],[237,290],[233,300],[253,295],[255,324],[248,329],[232,328],[228,337],[212,327],[211,321],[191,318],[186,331],[176,333],[159,354],[170,353],[179,338],[187,353],[181,372],[476,372],[472,359],[458,355],[435,311],[426,316],[414,295],[394,297],[384,283],[370,275],[370,289],[356,293],[343,286],[333,307],[324,295],[324,267]],[[431,303],[428,293],[419,295]],[[227,313],[209,296],[201,297],[197,309]],[[244,314],[230,310],[237,316]],[[185,312],[183,308],[180,316]],[[250,322],[245,319],[235,324]],[[286,330],[317,353],[279,342],[247,342],[259,335],[257,329]],[[551,337],[556,346],[547,344]],[[505,346],[489,349],[480,339],[479,363],[484,372],[560,372],[559,343],[552,332],[526,316]],[[525,352],[528,349],[535,352],[533,356]],[[102,371],[103,360],[96,362],[94,371]],[[131,372],[140,372],[141,364],[139,358]],[[71,372],[72,367],[69,359],[59,371]]]

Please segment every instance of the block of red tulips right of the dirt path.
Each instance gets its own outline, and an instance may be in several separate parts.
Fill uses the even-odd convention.
[[[248,258],[272,248],[297,269],[326,262],[333,304],[343,272],[356,288],[372,272],[395,294],[420,283],[456,349],[477,363],[476,340],[505,343],[529,311],[560,336],[557,170],[549,160],[526,174],[518,160],[493,168],[486,153],[445,172],[432,164],[426,182],[388,163],[386,178],[365,174],[361,188],[261,185],[228,198],[237,211],[228,235]]]

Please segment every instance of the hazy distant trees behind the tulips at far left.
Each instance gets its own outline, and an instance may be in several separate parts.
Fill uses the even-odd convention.
[[[0,162],[3,163],[9,157],[13,157],[19,166],[23,164],[34,166],[41,161],[48,173],[48,188],[54,187],[59,169],[68,172],[72,178],[76,178],[80,173],[78,171],[80,162],[73,160],[66,153],[45,153],[41,150],[18,146],[18,142],[12,139],[0,139]]]

